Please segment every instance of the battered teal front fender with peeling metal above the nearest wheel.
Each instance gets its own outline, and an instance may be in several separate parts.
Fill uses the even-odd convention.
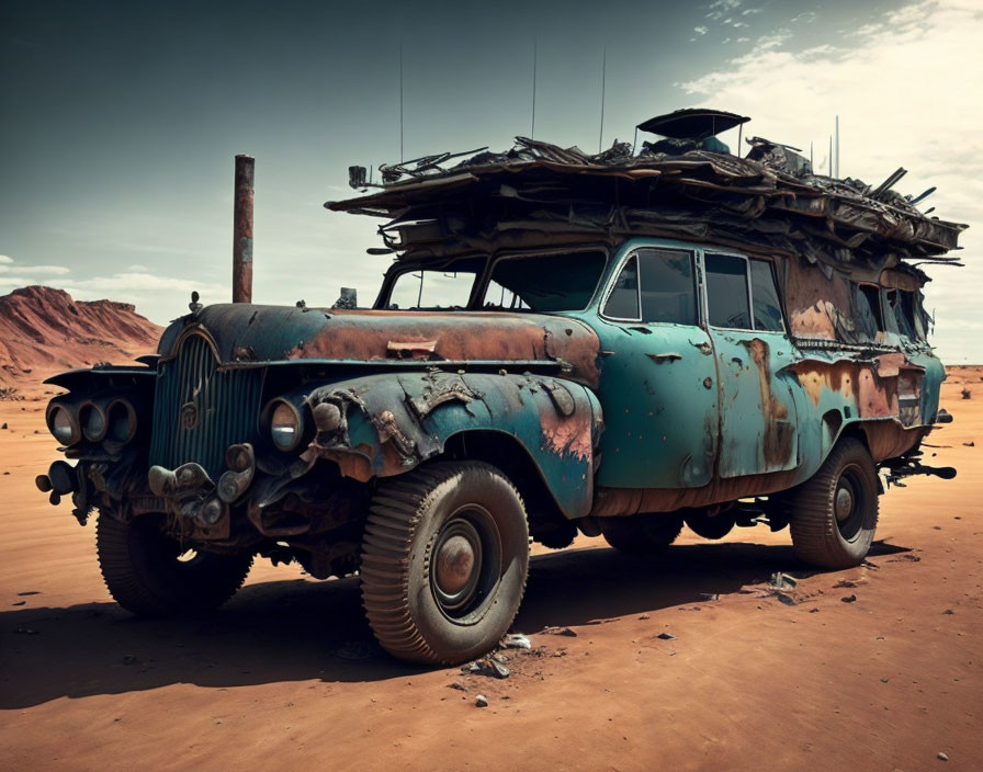
[[[578,384],[430,370],[326,384],[306,391],[306,402],[316,425],[306,458],[334,461],[348,477],[399,475],[443,453],[452,436],[502,432],[526,450],[567,518],[590,511],[603,423],[597,398]]]

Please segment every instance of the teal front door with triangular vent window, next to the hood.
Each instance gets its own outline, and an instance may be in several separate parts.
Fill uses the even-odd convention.
[[[605,408],[598,483],[696,488],[713,473],[716,371],[699,326],[693,250],[641,247],[615,268],[591,320]]]

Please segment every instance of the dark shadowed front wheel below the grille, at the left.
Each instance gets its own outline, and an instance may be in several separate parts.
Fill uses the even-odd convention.
[[[154,515],[123,523],[109,514],[95,522],[95,550],[110,594],[138,616],[212,611],[238,590],[251,555],[202,553],[182,546]]]

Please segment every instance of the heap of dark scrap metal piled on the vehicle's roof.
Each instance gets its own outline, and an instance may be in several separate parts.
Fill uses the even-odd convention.
[[[656,121],[691,118],[677,111]],[[711,114],[733,116],[718,111]],[[700,116],[698,116],[700,117]],[[743,123],[738,118],[730,125]],[[719,125],[719,124],[718,124]],[[705,139],[723,130],[704,132]],[[669,129],[657,130],[664,136]],[[891,185],[814,174],[791,148],[754,138],[746,158],[705,149],[697,140],[645,143],[637,155],[618,143],[597,155],[517,137],[506,152],[441,154],[381,166],[375,193],[325,204],[330,209],[386,217],[386,247],[403,258],[457,254],[536,242],[658,236],[801,254],[826,271],[850,263],[873,268],[901,260],[957,263],[964,225],[928,217]],[[668,147],[667,147],[668,146]],[[712,146],[712,145],[711,145]],[[689,149],[688,149],[689,148]],[[668,150],[665,151],[665,150]],[[461,156],[470,156],[445,166]],[[350,169],[353,188],[368,189],[364,168]],[[930,191],[929,191],[930,192]],[[564,238],[566,237],[566,238]]]

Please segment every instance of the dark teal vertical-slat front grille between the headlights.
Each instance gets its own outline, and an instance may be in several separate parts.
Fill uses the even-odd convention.
[[[262,371],[217,365],[200,334],[185,338],[174,359],[158,363],[150,464],[174,469],[196,462],[217,480],[226,449],[256,442]]]

